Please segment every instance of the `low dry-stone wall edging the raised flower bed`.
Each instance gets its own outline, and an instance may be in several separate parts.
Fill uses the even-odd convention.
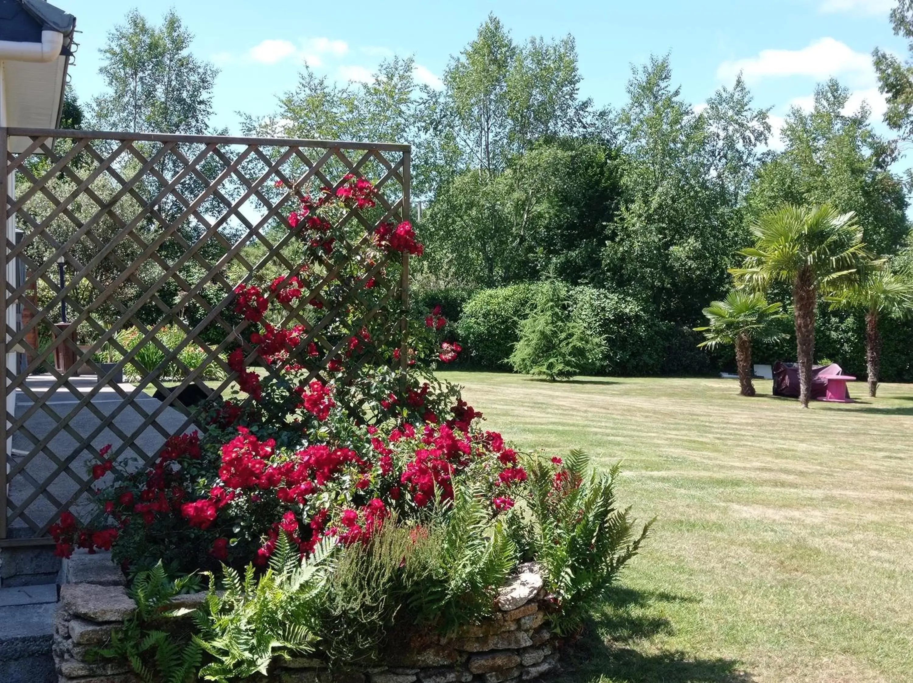
[[[54,633],[60,683],[134,683],[126,661],[93,657],[135,604],[122,576],[104,553],[75,556],[64,568],[65,583]],[[180,598],[193,607],[205,594]],[[277,659],[263,681],[276,683],[502,683],[540,678],[558,665],[558,639],[544,625],[547,601],[537,565],[520,565],[500,590],[496,613],[452,636],[415,634],[402,650],[368,670],[330,671],[309,657]]]

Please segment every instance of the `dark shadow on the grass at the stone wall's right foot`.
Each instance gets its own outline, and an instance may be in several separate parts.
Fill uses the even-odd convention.
[[[616,587],[604,609],[585,625],[582,637],[562,655],[561,683],[751,683],[739,662],[724,657],[689,657],[680,651],[653,652],[638,641],[673,633],[666,617],[646,615],[650,604],[698,603],[697,598]]]

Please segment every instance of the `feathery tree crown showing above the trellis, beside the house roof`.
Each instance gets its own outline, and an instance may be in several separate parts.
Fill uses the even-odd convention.
[[[191,52],[193,35],[174,10],[162,24],[131,10],[101,48],[108,91],[94,100],[95,125],[113,131],[209,130],[217,69]]]

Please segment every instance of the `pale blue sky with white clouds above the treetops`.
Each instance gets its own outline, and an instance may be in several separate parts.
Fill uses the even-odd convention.
[[[171,3],[54,0],[77,16],[79,54],[71,69],[81,99],[102,89],[99,48],[131,6],[158,19]],[[265,114],[294,86],[302,60],[334,79],[369,78],[384,56],[412,55],[420,80],[435,85],[494,12],[519,40],[577,40],[582,94],[600,105],[624,102],[632,63],[670,52],[684,97],[698,104],[745,73],[774,127],[792,104],[806,105],[816,82],[835,76],[884,110],[870,54],[906,53],[887,18],[893,0],[577,0],[540,2],[314,3],[196,0],[175,5],[194,33],[194,52],[214,61],[215,124],[238,131],[236,111]],[[375,10],[375,7],[381,7]]]

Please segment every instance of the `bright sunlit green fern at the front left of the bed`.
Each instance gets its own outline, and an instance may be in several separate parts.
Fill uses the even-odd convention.
[[[210,574],[204,607],[194,614],[194,645],[213,661],[200,678],[226,680],[266,675],[274,657],[306,654],[314,649],[315,598],[331,564],[334,545],[324,540],[308,559],[279,534],[266,573],[257,578],[248,565],[242,577],[224,566],[224,594],[215,590]]]

